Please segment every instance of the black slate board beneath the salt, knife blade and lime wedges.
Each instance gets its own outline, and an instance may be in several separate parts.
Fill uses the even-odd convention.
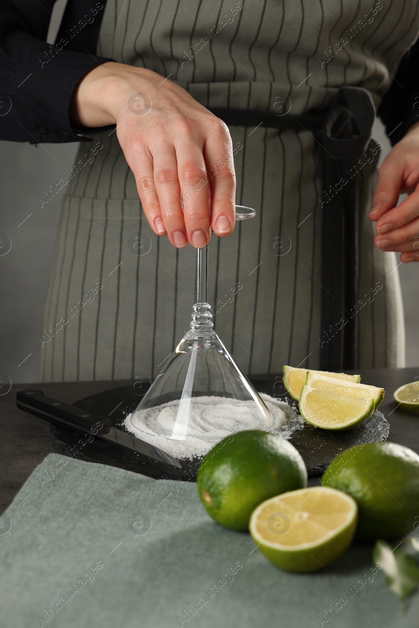
[[[281,382],[257,379],[252,383],[261,393],[297,405],[297,402],[288,394],[282,393],[284,389]],[[121,426],[122,421],[126,414],[136,408],[148,387],[150,384],[143,384],[141,390],[134,389],[134,386],[121,386],[80,399],[74,405],[97,416],[109,416],[112,426],[125,431],[124,426]],[[386,440],[388,432],[388,422],[381,412],[376,411],[366,423],[352,430],[322,430],[305,423],[303,429],[295,431],[289,440],[301,453],[308,475],[311,476],[322,473],[329,462],[348,447]],[[163,467],[158,462],[150,461],[138,453],[116,447],[101,438],[94,438],[89,442],[83,437],[80,438],[80,434],[53,425],[50,428],[50,435],[58,449],[67,455],[89,462],[121,467],[159,479],[180,479],[193,482],[199,465],[199,459],[183,461],[184,468],[178,472],[167,465]]]

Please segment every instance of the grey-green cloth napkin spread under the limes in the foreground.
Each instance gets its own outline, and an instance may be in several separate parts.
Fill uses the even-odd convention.
[[[0,625],[416,628],[419,596],[403,611],[371,549],[286,573],[212,521],[195,484],[50,454],[1,517]]]

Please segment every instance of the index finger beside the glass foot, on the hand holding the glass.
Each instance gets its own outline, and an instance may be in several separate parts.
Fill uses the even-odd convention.
[[[205,143],[204,157],[209,170],[212,230],[217,236],[228,236],[236,222],[236,176],[230,134],[218,119]]]

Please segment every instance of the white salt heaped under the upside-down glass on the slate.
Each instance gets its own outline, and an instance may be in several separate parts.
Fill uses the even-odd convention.
[[[260,396],[273,419],[269,432],[290,438],[291,433],[302,428],[303,419],[297,409],[286,401],[278,401],[267,394],[260,393]],[[188,423],[187,440],[170,438],[177,418],[179,400],[145,411],[134,411],[126,416],[124,426],[134,436],[155,445],[178,460],[202,457],[215,443],[237,431],[266,430],[266,426],[257,416],[259,413],[255,411],[249,414],[242,401],[215,396],[192,399],[193,411]]]

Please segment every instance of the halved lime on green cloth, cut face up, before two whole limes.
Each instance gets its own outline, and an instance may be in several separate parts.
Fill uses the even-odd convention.
[[[249,530],[266,558],[287,571],[318,571],[352,541],[357,504],[340,490],[291,490],[260,504]]]

